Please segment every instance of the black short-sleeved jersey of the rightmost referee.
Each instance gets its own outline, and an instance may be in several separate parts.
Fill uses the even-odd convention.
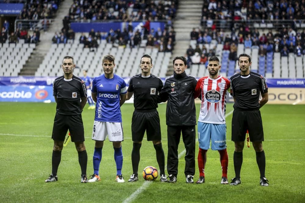
[[[240,73],[233,75],[230,78],[230,88],[230,94],[236,99],[234,109],[242,111],[258,110],[260,93],[268,92],[266,79],[255,72],[250,72],[247,76]]]

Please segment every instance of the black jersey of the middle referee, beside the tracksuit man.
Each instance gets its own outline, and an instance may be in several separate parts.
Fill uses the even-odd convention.
[[[151,111],[158,107],[157,96],[163,87],[160,78],[150,74],[135,75],[129,80],[128,92],[134,93],[134,107],[136,111]]]

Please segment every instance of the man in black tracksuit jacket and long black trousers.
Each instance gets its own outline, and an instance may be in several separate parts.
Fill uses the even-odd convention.
[[[196,108],[193,93],[197,80],[185,73],[186,64],[183,56],[174,58],[174,75],[165,79],[164,87],[159,95],[159,102],[167,101],[167,172],[170,183],[177,181],[178,145],[181,131],[186,150],[184,171],[186,183],[193,183],[195,174]]]

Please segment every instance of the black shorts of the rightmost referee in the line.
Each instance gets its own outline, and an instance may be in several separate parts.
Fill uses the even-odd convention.
[[[233,111],[232,141],[245,141],[247,130],[251,142],[264,141],[263,122],[260,110]]]

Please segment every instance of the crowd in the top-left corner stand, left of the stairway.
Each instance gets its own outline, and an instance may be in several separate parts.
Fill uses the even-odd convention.
[[[59,7],[60,0],[27,0],[17,19],[39,20],[52,19]]]

